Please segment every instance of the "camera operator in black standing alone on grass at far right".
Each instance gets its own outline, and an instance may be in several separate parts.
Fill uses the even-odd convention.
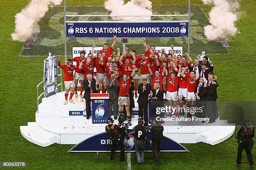
[[[241,125],[243,126],[239,129],[235,137],[236,139],[238,139],[237,159],[235,165],[241,166],[242,152],[243,150],[245,150],[249,161],[249,166],[251,168],[254,168],[251,149],[253,148],[252,138],[254,137],[255,127],[251,123],[249,123],[247,119],[243,119]]]

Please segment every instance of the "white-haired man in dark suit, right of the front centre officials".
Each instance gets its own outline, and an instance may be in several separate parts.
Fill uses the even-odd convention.
[[[164,107],[164,92],[159,89],[159,83],[154,84],[154,89],[149,95],[151,101],[151,115],[152,118],[156,117],[156,107]]]

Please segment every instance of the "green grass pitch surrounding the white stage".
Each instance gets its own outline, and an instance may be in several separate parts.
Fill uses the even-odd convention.
[[[43,62],[48,52],[61,56],[64,59],[64,45],[61,35],[63,34],[63,4],[51,8],[46,16],[40,21],[41,33],[31,50],[24,50],[24,42],[11,40],[10,34],[15,28],[15,14],[19,13],[30,0],[10,0],[0,3],[0,57],[2,65],[0,71],[1,92],[0,92],[0,161],[4,162],[26,162],[27,169],[75,169],[75,170],[96,170],[96,169],[128,169],[127,162],[120,163],[117,153],[115,160],[109,160],[110,153],[67,153],[73,145],[54,144],[43,148],[28,142],[20,135],[21,125],[35,121],[36,112],[36,85],[43,79]],[[172,14],[173,12],[187,13],[187,1],[183,0],[152,0],[154,14]],[[67,11],[79,14],[108,14],[102,7],[104,0],[67,0]],[[218,101],[256,101],[256,56],[255,47],[256,15],[254,0],[240,1],[238,10],[239,20],[236,27],[241,32],[235,37],[230,37],[230,47],[221,47],[217,41],[206,41],[203,35],[203,25],[207,25],[210,5],[203,5],[200,0],[192,0],[192,58],[205,50],[215,66],[215,74],[218,77]],[[162,6],[159,6],[162,5]],[[92,10],[87,10],[88,6]],[[78,10],[83,9],[83,10]],[[80,8],[81,7],[81,8]],[[166,9],[166,13],[163,13]],[[84,12],[81,12],[84,11]],[[87,13],[87,11],[90,11]],[[160,12],[161,11],[161,12]],[[51,22],[51,23],[49,23]],[[57,25],[59,28],[52,28]],[[46,41],[46,38],[49,39]],[[68,42],[68,55],[71,56],[72,46],[102,45],[104,40],[72,40]],[[108,41],[107,41],[108,42]],[[109,41],[108,43],[111,43]],[[130,48],[142,51],[141,39],[134,39],[128,44]],[[186,39],[148,39],[148,44],[155,45],[182,45],[187,49]],[[117,46],[120,46],[118,44]],[[121,46],[120,46],[121,47]],[[38,57],[44,56],[44,57]],[[253,105],[253,104],[252,104]],[[233,103],[233,110],[236,110],[236,103]],[[255,107],[255,106],[254,106]],[[225,116],[225,108],[221,109],[221,115]],[[228,110],[227,114],[232,114]],[[255,118],[255,109],[244,108],[246,116]],[[249,111],[248,111],[249,110]],[[239,126],[236,127],[236,132]],[[191,169],[217,169],[231,170],[249,169],[248,161],[243,152],[242,167],[234,167],[236,162],[236,140],[230,137],[228,140],[218,144],[209,145],[205,143],[182,144],[190,153],[161,153],[161,166],[157,166],[152,153],[145,154],[145,164],[136,163],[135,153],[131,153],[131,169],[163,169],[163,170],[191,170]],[[255,143],[255,139],[254,139]],[[256,158],[256,147],[252,150],[253,158]],[[127,153],[125,154],[127,158]],[[6,168],[7,169],[7,168]]]

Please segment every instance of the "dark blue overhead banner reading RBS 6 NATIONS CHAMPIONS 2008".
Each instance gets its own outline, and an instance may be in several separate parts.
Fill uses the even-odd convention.
[[[66,23],[67,37],[187,37],[187,22]]]

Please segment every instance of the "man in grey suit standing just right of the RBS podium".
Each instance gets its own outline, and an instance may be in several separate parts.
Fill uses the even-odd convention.
[[[107,80],[107,89],[109,94],[108,100],[108,117],[111,117],[112,107],[114,111],[114,119],[118,117],[118,95],[119,95],[119,82],[115,78],[115,73],[111,74],[111,78]]]

